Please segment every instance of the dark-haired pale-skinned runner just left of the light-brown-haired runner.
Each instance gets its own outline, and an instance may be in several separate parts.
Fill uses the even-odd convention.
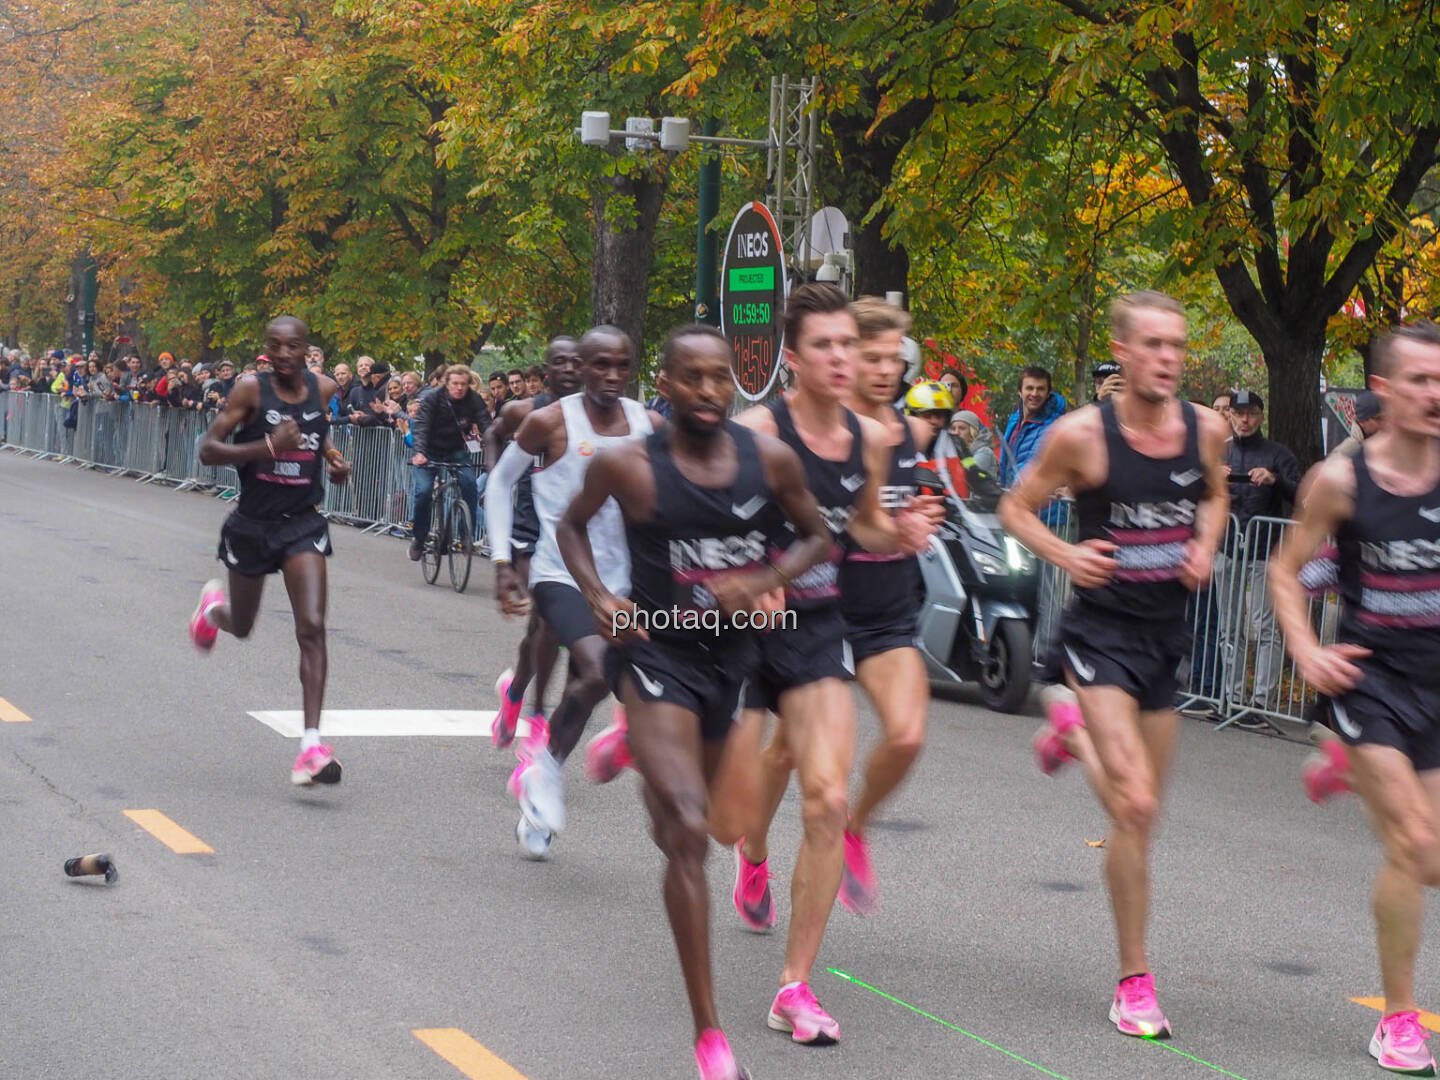
[[[845,685],[855,670],[840,612],[840,544],[848,527],[850,539],[871,552],[913,554],[927,543],[940,513],[933,498],[894,516],[880,505],[880,488],[890,469],[888,432],[841,403],[854,380],[858,340],[855,317],[841,289],[801,285],[786,301],[785,314],[785,359],[795,389],[737,418],[743,426],[795,449],[805,484],[835,536],[831,557],[789,585],[786,606],[796,611],[798,626],[766,641],[736,733],[736,752],[753,762],[765,711],[779,714],[775,737],[762,756],[763,795],[753,806],[739,808],[749,812],[744,840],[736,845],[733,900],[752,930],[775,924],[766,841],[791,769],[799,772],[805,831],[791,887],[795,910],[785,968],[769,1024],[792,1032],[796,1043],[818,1045],[840,1038],[840,1025],[811,992],[809,975],[840,891],[845,780],[855,753],[855,707]],[[782,530],[775,541],[783,550],[793,537]]]

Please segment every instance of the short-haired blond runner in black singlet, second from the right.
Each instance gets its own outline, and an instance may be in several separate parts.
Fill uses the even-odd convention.
[[[1086,743],[1077,756],[1097,762],[1093,782],[1112,819],[1106,878],[1120,982],[1110,1020],[1126,1035],[1165,1038],[1145,958],[1149,847],[1178,733],[1175,671],[1191,647],[1185,600],[1210,579],[1228,513],[1228,426],[1175,396],[1185,360],[1178,301],[1117,300],[1110,348],[1125,389],[1054,423],[999,518],[1076,586],[1057,648],[1083,714],[1070,737]],[[1040,518],[1061,487],[1074,491],[1074,544]]]

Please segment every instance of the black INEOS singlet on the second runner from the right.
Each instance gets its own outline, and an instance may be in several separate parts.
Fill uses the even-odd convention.
[[[1079,540],[1110,540],[1117,546],[1115,579],[1099,589],[1080,589],[1076,603],[1146,622],[1185,618],[1189,589],[1179,580],[1185,544],[1195,536],[1195,510],[1205,495],[1195,406],[1181,402],[1185,448],[1178,458],[1148,458],[1120,433],[1113,399],[1100,402],[1109,467],[1104,484],[1076,495]]]

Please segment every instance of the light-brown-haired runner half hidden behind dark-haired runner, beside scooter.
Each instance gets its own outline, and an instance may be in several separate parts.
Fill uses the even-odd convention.
[[[914,482],[917,445],[932,439],[932,425],[926,419],[901,416],[893,406],[904,374],[901,346],[910,331],[910,317],[873,297],[857,301],[852,310],[860,325],[860,364],[848,405],[857,416],[868,416],[884,431],[891,454],[880,504],[896,510],[919,491]],[[940,389],[948,399],[949,390]],[[945,419],[950,410],[945,409]],[[840,566],[840,598],[855,681],[874,704],[884,732],[884,740],[865,763],[865,785],[850,812],[840,901],[855,914],[874,914],[880,907],[880,887],[870,861],[865,825],[920,756],[930,707],[930,681],[914,644],[924,602],[920,563],[914,556],[871,554],[850,543]]]

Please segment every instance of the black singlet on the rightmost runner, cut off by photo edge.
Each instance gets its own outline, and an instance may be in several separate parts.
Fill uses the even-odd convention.
[[[1339,641],[1416,683],[1440,683],[1440,485],[1392,495],[1355,462],[1355,513],[1336,530],[1345,598]]]

